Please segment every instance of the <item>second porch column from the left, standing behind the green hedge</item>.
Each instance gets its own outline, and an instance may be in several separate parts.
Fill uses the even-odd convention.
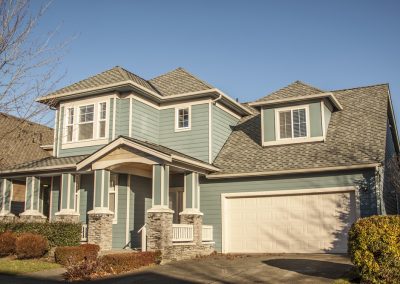
[[[25,211],[19,214],[21,221],[45,222],[46,216],[39,212],[40,203],[40,178],[26,177]]]

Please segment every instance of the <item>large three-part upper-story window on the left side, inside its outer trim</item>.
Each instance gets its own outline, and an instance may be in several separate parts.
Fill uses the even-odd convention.
[[[90,103],[66,108],[64,142],[80,142],[107,137],[107,103]]]

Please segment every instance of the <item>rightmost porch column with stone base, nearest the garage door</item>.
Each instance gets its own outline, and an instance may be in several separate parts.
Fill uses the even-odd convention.
[[[185,173],[185,202],[184,209],[179,213],[181,224],[193,225],[193,242],[202,244],[203,213],[200,212],[200,184],[199,174],[195,172]]]

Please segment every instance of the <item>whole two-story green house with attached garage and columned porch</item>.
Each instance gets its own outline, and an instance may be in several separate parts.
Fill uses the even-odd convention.
[[[242,104],[182,68],[117,66],[38,102],[54,156],[3,169],[3,196],[25,183],[20,219],[81,222],[103,250],[342,253],[357,218],[398,212],[387,84],[296,81]]]

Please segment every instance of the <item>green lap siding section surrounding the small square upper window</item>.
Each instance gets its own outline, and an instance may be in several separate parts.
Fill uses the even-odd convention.
[[[191,130],[175,132],[175,109],[160,111],[159,143],[208,162],[208,104],[193,105]]]

